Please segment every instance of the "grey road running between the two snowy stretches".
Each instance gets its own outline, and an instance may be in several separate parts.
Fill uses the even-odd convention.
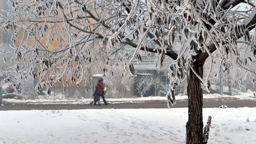
[[[205,101],[203,108],[214,108],[221,105],[227,105],[228,108],[238,107],[256,107],[256,101]],[[177,102],[173,108],[187,107],[187,102]],[[126,108],[167,108],[167,103],[119,103],[102,106],[90,106],[89,104],[5,104],[1,106],[0,110],[59,110],[59,109],[103,109],[103,108],[114,108],[114,109],[126,109]]]

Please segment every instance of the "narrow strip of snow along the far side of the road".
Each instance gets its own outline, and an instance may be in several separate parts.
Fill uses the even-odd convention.
[[[220,95],[220,94],[204,94],[203,98],[204,99],[215,99],[215,98],[235,98],[238,100],[255,100],[256,97],[254,96],[255,92],[248,91],[246,93],[240,92],[237,95],[229,96],[229,95]],[[46,98],[47,97],[47,98]],[[59,103],[59,104],[88,104],[89,102],[92,101],[90,98],[85,98],[85,99],[66,99],[65,96],[62,94],[56,95],[56,96],[42,96],[40,99],[34,99],[34,100],[19,100],[19,99],[3,99],[3,102],[10,102],[10,103],[28,103],[28,104],[54,104],[54,103]],[[178,95],[175,97],[177,101],[179,100],[186,100],[187,96],[186,95]],[[108,98],[106,96],[106,100],[109,103],[142,103],[144,101],[154,101],[154,100],[166,100],[166,97],[159,97],[159,96],[150,96],[150,97],[138,97],[138,98]]]

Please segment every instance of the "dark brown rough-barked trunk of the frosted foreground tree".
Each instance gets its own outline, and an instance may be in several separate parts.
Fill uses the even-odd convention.
[[[193,66],[196,73],[203,77],[203,66]],[[190,69],[188,76],[188,122],[186,124],[186,143],[203,144],[203,89],[201,81]]]

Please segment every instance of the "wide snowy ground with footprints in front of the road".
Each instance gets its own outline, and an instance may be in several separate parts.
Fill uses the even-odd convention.
[[[2,144],[184,144],[187,108],[0,111]],[[255,144],[256,108],[204,108],[208,144]]]

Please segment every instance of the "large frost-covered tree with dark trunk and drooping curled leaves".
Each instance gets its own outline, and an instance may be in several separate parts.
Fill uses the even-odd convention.
[[[9,0],[9,5],[12,10],[1,13],[0,23],[2,30],[13,32],[14,45],[1,52],[17,59],[9,68],[12,74],[30,69],[27,75],[38,79],[37,92],[56,82],[88,86],[89,71],[108,69],[116,62],[110,58],[123,59],[118,53],[127,47],[120,45],[133,48],[123,66],[135,76],[132,60],[141,60],[139,50],[159,53],[160,67],[165,57],[172,58],[168,107],[175,104],[176,87],[187,81],[188,144],[208,140],[203,89],[210,91],[213,65],[218,67],[216,80],[235,64],[236,83],[243,85],[242,70],[255,82],[254,0]],[[207,58],[210,68],[204,71]]]

